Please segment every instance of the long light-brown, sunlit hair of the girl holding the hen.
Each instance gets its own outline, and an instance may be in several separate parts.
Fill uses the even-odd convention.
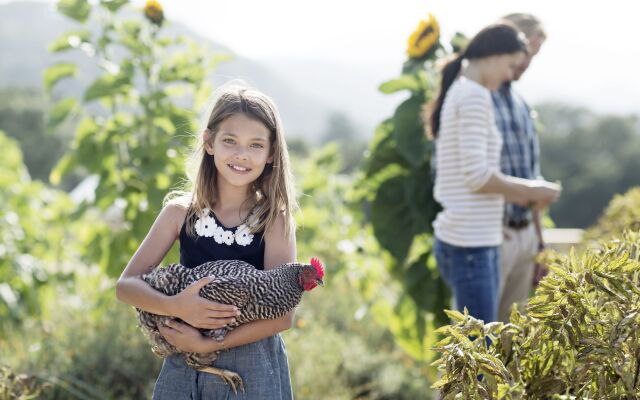
[[[250,226],[252,232],[269,230],[281,213],[285,221],[285,236],[289,238],[295,231],[294,214],[298,208],[289,166],[289,152],[284,139],[284,130],[278,109],[273,100],[256,89],[238,82],[221,86],[214,93],[212,107],[206,114],[201,132],[209,131],[208,142],[215,140],[220,124],[236,114],[244,114],[260,121],[270,132],[273,163],[267,164],[250,189],[248,202],[254,204],[253,217],[257,223]],[[213,157],[206,153],[202,134],[197,135],[196,146],[187,164],[189,178],[185,191],[169,193],[166,203],[188,207],[186,228],[195,236],[193,216],[205,208],[213,210],[218,198],[217,170]]]

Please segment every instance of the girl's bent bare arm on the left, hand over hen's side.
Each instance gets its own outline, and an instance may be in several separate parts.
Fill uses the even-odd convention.
[[[158,315],[176,316],[187,323],[207,329],[227,325],[236,315],[235,307],[203,299],[200,288],[208,283],[203,278],[175,296],[167,296],[140,279],[158,265],[180,234],[186,210],[177,205],[165,207],[144,241],[120,275],[116,284],[118,300]]]

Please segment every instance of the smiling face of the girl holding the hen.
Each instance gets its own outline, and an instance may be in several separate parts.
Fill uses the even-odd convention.
[[[249,187],[267,163],[273,162],[269,129],[245,114],[234,114],[222,121],[213,143],[204,133],[205,150],[213,156],[218,183]]]

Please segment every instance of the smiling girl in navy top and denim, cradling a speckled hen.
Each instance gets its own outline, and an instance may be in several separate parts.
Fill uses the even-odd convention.
[[[238,392],[238,397],[290,399],[287,355],[278,333],[291,327],[293,312],[242,325],[224,342],[216,342],[196,328],[225,326],[237,310],[198,296],[209,278],[172,297],[139,279],[160,263],[176,240],[180,262],[187,267],[238,259],[269,269],[296,259],[297,203],[282,124],[271,99],[250,88],[223,87],[201,139],[192,190],[164,207],[118,280],[118,299],[188,323],[172,321],[161,328],[167,341],[182,351],[226,350],[215,366],[243,378],[245,392]],[[195,371],[174,355],[164,360],[153,398],[226,399],[230,390],[218,376]]]

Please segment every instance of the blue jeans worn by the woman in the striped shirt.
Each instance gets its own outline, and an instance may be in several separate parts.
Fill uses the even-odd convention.
[[[500,288],[498,246],[459,247],[434,237],[433,252],[442,278],[453,292],[453,308],[485,323],[497,320]]]

